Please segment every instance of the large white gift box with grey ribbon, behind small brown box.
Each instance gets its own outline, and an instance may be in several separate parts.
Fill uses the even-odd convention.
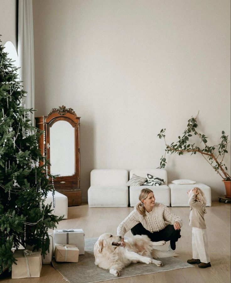
[[[84,254],[84,232],[83,229],[54,230],[54,244],[75,244],[79,249],[79,254]]]

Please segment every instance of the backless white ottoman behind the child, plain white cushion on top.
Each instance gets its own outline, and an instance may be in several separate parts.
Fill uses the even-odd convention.
[[[211,188],[209,186],[202,183],[190,185],[177,185],[170,183],[171,206],[189,206],[187,191],[195,187],[200,188],[203,191],[207,200],[206,206],[211,206]]]

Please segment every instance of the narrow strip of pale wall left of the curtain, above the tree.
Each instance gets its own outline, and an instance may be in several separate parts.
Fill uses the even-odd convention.
[[[17,0],[0,0],[0,35],[2,45],[11,41],[18,48],[18,5]]]

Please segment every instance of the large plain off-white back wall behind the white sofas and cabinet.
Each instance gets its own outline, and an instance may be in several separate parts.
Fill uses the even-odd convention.
[[[230,1],[34,0],[33,15],[35,116],[81,116],[83,200],[93,168],[158,167],[158,132],[176,141],[198,110],[212,145],[230,136]],[[202,156],[169,156],[166,169],[225,194]]]

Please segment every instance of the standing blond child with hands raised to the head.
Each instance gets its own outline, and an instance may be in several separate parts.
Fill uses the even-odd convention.
[[[204,215],[206,213],[206,199],[199,188],[187,191],[189,196],[190,216],[189,225],[192,226],[192,259],[187,260],[190,264],[198,264],[200,268],[210,267],[208,254],[208,240]]]

